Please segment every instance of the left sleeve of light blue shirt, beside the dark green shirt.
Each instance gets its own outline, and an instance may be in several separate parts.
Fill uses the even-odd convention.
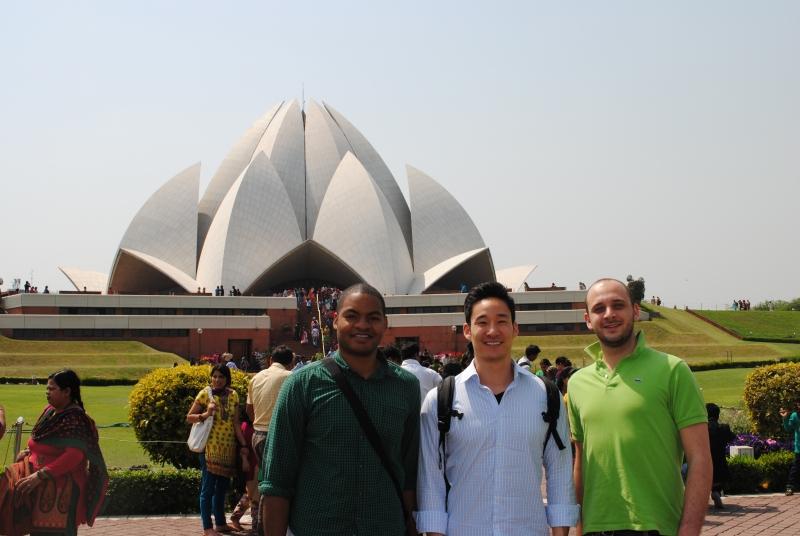
[[[422,403],[420,416],[419,468],[415,514],[419,532],[447,533],[444,472],[439,464],[439,427],[437,425],[436,389],[431,389]]]

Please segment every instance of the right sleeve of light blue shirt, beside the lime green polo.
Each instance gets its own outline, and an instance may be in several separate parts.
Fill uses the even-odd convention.
[[[569,427],[563,401],[558,416],[558,435],[565,448],[559,450],[551,438],[544,452],[544,470],[547,475],[547,524],[551,527],[574,527],[580,519],[581,508],[575,500],[572,482],[572,450],[569,448]]]

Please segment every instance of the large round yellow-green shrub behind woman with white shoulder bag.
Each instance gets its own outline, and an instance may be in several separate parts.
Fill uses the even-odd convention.
[[[191,428],[186,414],[197,393],[209,385],[210,375],[208,365],[161,368],[142,377],[133,387],[128,399],[128,420],[151,460],[179,469],[200,466],[198,455],[186,446]],[[244,405],[248,376],[232,370],[231,380],[239,403]]]

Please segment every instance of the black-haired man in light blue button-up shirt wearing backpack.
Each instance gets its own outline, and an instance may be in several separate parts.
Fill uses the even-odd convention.
[[[450,536],[567,536],[580,507],[572,484],[572,454],[548,441],[544,383],[517,367],[514,300],[499,283],[482,283],[464,301],[464,335],[475,359],[456,377],[453,418],[440,458],[437,390],[422,404],[417,530]],[[569,437],[566,412],[560,437]],[[444,463],[440,463],[444,460]],[[445,490],[444,473],[451,488]],[[547,506],[541,496],[547,475]],[[552,527],[552,528],[551,528]]]

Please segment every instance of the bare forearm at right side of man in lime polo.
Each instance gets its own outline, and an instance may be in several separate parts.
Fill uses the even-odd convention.
[[[687,426],[680,430],[680,435],[689,471],[678,536],[697,536],[703,528],[708,496],[711,493],[712,465],[708,425],[698,423]]]

